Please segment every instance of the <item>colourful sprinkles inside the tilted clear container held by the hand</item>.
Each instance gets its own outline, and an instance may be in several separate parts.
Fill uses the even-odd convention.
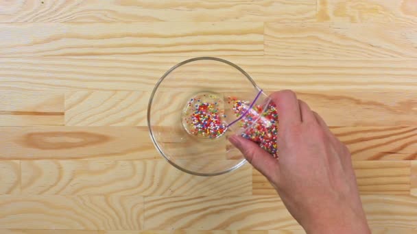
[[[239,118],[243,114],[243,118],[239,120],[239,127],[246,129],[241,136],[252,140],[261,148],[270,153],[272,157],[278,158],[278,112],[276,105],[271,101],[265,112],[261,105],[254,105],[252,109],[249,101],[237,100],[235,97],[228,97],[228,103],[233,104],[233,112]],[[260,116],[261,115],[261,116]]]

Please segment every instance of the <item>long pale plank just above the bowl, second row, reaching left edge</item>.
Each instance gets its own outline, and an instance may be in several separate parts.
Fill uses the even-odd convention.
[[[0,31],[2,57],[263,55],[263,23],[21,23]]]

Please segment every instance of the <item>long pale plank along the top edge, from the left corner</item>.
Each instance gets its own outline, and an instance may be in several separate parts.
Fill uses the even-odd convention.
[[[11,1],[0,22],[314,21],[314,0]]]

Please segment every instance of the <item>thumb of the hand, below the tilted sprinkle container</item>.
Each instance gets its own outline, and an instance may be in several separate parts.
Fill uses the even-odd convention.
[[[239,135],[232,135],[229,141],[241,151],[246,160],[259,172],[261,172],[270,181],[276,181],[276,170],[278,170],[278,161],[269,153],[264,151],[254,142],[242,138]]]

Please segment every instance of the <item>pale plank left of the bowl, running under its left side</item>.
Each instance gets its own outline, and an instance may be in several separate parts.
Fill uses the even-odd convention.
[[[151,92],[76,91],[67,92],[67,126],[147,126],[147,107]],[[158,92],[152,102],[151,124],[172,127],[180,124],[184,107],[195,92]]]

